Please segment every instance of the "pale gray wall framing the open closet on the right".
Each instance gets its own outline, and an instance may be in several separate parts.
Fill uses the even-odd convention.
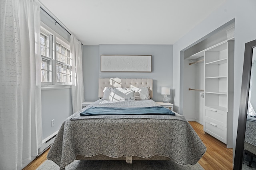
[[[240,92],[242,83],[242,63],[244,62],[245,43],[256,39],[256,1],[255,0],[227,0],[215,10],[208,18],[190,30],[184,37],[173,45],[173,88],[176,92],[180,91],[180,75],[182,75],[182,66],[180,67],[181,55],[183,51],[194,42],[202,39],[218,27],[235,18],[235,51],[234,51],[234,131],[233,143],[236,143],[236,132],[238,124],[238,112],[240,104]],[[182,81],[181,81],[182,82]],[[174,96],[174,110],[180,110],[180,94]],[[233,153],[235,149],[233,149]]]

